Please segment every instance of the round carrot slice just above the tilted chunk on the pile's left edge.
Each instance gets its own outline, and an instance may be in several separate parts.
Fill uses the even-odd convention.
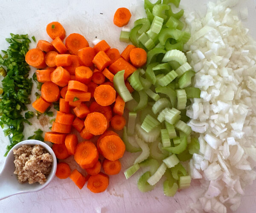
[[[41,87],[41,96],[47,102],[55,102],[60,98],[60,89],[55,83],[47,81]]]

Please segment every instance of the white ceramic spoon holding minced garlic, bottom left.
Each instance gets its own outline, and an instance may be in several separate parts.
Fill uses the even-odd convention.
[[[40,144],[42,147],[44,147],[47,150],[49,154],[52,155],[52,158],[53,158],[52,170],[47,177],[47,181],[44,184],[39,184],[39,183],[20,184],[17,180],[17,175],[13,173],[15,171],[15,165],[14,165],[14,154],[12,150],[17,149],[18,147],[24,144],[27,144],[27,145]],[[5,199],[12,195],[17,195],[20,193],[36,192],[38,190],[43,189],[54,178],[56,168],[57,168],[56,156],[52,151],[52,149],[46,143],[38,140],[21,141],[20,143],[12,147],[12,149],[9,151],[9,153],[6,156],[5,162],[3,164],[3,170],[0,172],[0,200]]]

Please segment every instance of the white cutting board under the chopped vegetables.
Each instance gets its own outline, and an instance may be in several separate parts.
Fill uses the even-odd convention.
[[[186,11],[204,13],[208,0],[181,0],[181,6]],[[235,9],[248,6],[249,17],[244,21],[250,29],[250,34],[256,39],[256,0],[241,0]],[[37,40],[49,40],[45,31],[46,25],[51,21],[59,21],[66,29],[66,35],[81,33],[92,45],[97,37],[105,39],[111,47],[120,52],[126,43],[119,42],[120,28],[113,25],[113,14],[119,7],[127,7],[132,13],[129,26],[134,20],[145,17],[143,0],[2,0],[0,6],[0,49],[6,49],[5,41],[9,33],[34,35]],[[101,14],[102,13],[102,14]],[[32,41],[31,48],[35,47]],[[34,71],[35,69],[32,69]],[[34,88],[35,89],[35,88]],[[34,94],[35,90],[32,91]],[[35,98],[31,98],[34,101]],[[49,131],[50,124],[41,126],[35,118],[33,126],[26,128],[25,138],[32,132],[41,128]],[[4,161],[6,145],[9,144],[0,130],[0,170]],[[36,193],[20,194],[0,201],[0,213],[8,212],[88,212],[88,213],[163,213],[186,210],[189,203],[198,193],[198,181],[192,181],[192,186],[187,190],[177,193],[174,198],[163,195],[162,182],[151,192],[141,193],[137,189],[137,179],[142,171],[128,180],[123,175],[123,170],[129,167],[137,154],[125,153],[121,159],[122,171],[110,177],[110,184],[104,193],[94,194],[87,190],[86,185],[82,190],[70,180],[55,178],[44,190]],[[67,161],[72,161],[72,157]],[[73,165],[72,165],[73,167]],[[1,189],[0,189],[1,190]],[[256,209],[256,182],[248,187],[242,199],[241,206],[236,213],[253,213]]]

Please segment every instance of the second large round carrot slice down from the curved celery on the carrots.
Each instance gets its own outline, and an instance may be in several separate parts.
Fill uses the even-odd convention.
[[[102,113],[91,112],[85,118],[84,127],[93,135],[101,135],[107,130],[108,121]]]

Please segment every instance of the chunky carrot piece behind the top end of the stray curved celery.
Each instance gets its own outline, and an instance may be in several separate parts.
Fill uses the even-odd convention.
[[[125,70],[125,75],[124,75],[124,79],[126,80],[126,78],[128,78],[133,72],[135,72],[137,70],[136,67],[132,66],[131,63],[129,63],[128,61],[124,60],[123,58],[119,58],[117,59],[114,63],[112,63],[109,67],[108,67],[109,71],[112,72],[114,75],[121,71],[121,70]]]

